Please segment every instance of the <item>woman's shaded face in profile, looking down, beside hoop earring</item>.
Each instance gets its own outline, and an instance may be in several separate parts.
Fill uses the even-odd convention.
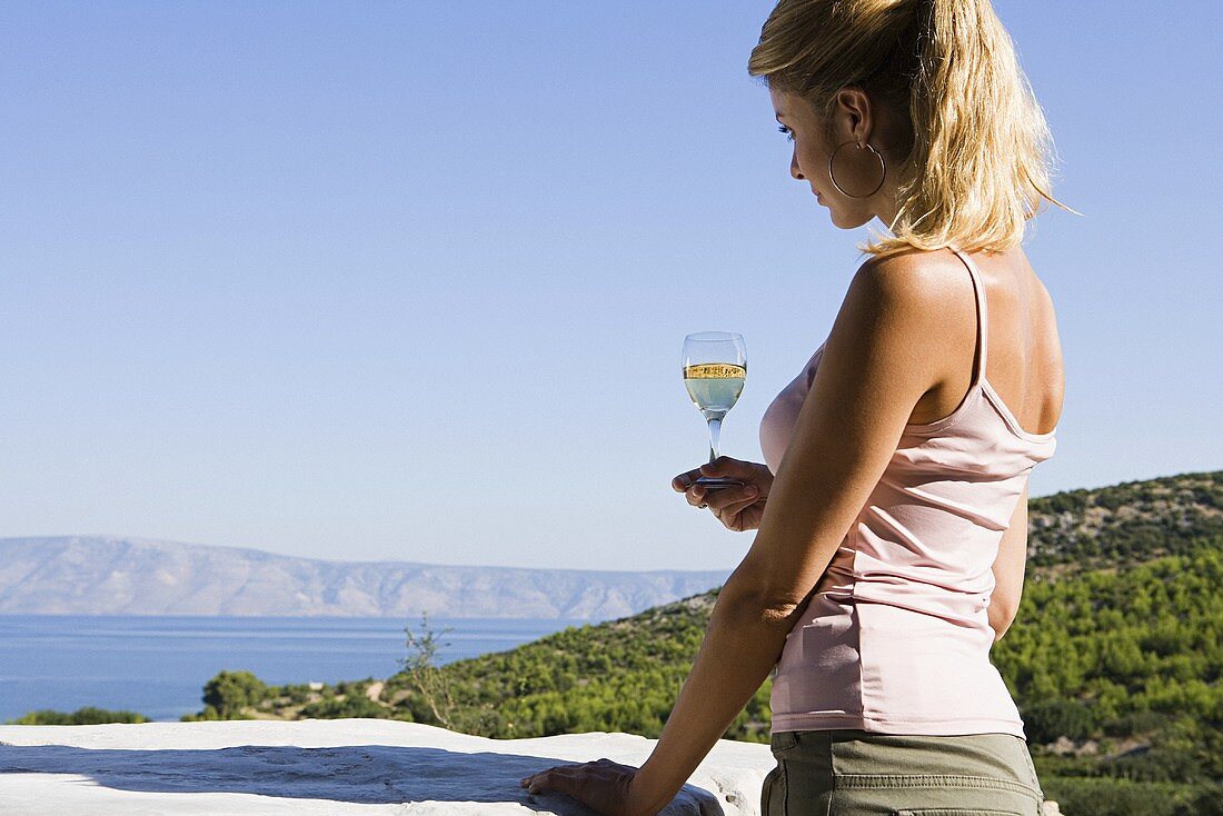
[[[817,114],[802,97],[784,91],[770,91],[769,95],[783,132],[794,142],[790,175],[811,185],[811,192],[828,208],[833,224],[841,229],[854,229],[878,215],[878,193],[867,198],[846,196],[837,190],[828,175],[828,157],[838,144],[849,142],[837,153],[837,184],[841,190],[855,195],[868,193],[879,187],[878,158],[866,147],[857,148],[859,142],[868,142],[870,114],[863,122],[863,117],[852,110],[852,103],[846,108],[839,99],[829,130],[826,117]],[[863,137],[863,132],[867,137]]]

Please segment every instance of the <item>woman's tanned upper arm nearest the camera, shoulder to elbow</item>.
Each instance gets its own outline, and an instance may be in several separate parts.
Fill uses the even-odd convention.
[[[815,587],[895,453],[914,406],[936,383],[943,289],[909,256],[854,276],[828,335],[750,552],[728,590],[770,617]]]

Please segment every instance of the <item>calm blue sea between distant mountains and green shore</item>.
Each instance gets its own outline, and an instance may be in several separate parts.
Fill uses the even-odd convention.
[[[439,663],[501,652],[582,620],[430,618]],[[83,706],[177,721],[223,669],[268,685],[388,678],[407,653],[396,618],[0,615],[0,723]]]

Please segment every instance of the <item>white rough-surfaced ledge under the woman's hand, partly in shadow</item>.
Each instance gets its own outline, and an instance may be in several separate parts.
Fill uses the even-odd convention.
[[[492,740],[385,719],[0,725],[0,812],[588,816],[519,779],[599,757],[641,765],[653,746],[604,733]],[[723,740],[663,812],[756,816],[772,767],[768,746]]]

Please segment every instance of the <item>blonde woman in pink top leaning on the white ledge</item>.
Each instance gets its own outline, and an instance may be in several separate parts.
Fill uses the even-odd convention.
[[[1019,603],[1027,477],[1062,410],[1053,306],[1020,247],[1053,201],[1044,121],[988,0],[781,0],[750,70],[791,175],[838,226],[890,235],[766,412],[768,464],[673,483],[758,532],[648,761],[522,783],[656,814],[777,666],[767,815],[1037,814],[988,651]]]

